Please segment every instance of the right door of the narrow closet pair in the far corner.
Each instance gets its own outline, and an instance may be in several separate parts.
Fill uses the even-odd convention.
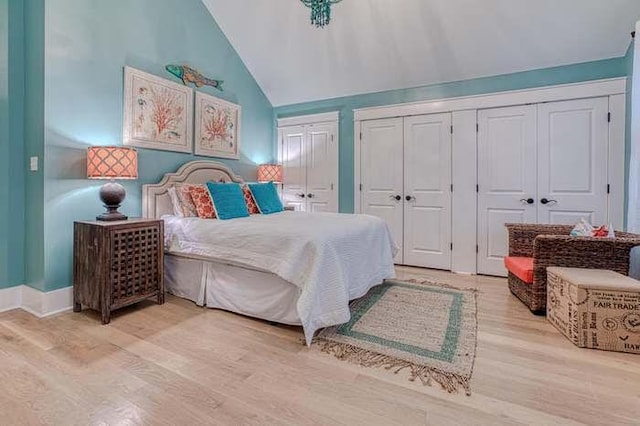
[[[334,123],[307,127],[307,211],[338,211],[338,145]]]

